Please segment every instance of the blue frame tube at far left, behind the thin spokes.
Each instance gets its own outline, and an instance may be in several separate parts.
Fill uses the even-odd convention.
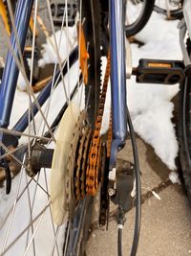
[[[29,28],[30,18],[32,14],[33,0],[19,0],[15,11],[15,27],[20,42],[20,49],[23,53],[27,32]],[[12,30],[11,32],[11,46],[17,58],[19,58],[19,51],[16,44],[16,37]],[[0,88],[0,127],[8,128],[10,125],[11,108],[18,80],[19,69],[9,50],[6,67],[4,69],[1,88]]]

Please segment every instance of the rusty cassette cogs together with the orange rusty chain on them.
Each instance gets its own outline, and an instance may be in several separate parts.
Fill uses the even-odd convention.
[[[100,178],[99,170],[104,168],[102,166],[103,162],[100,160],[102,159],[102,142],[99,135],[109,76],[110,55],[108,56],[105,78],[99,98],[100,102],[98,108],[98,115],[96,117],[95,131],[93,133],[92,129],[88,125],[86,111],[82,111],[75,124],[73,139],[71,141],[71,144],[69,145],[71,149],[69,152],[69,163],[65,179],[67,198],[65,207],[70,212],[74,212],[76,203],[86,194],[94,196],[96,195],[96,190]],[[109,133],[111,133],[111,126],[109,130]],[[108,139],[109,142],[107,142],[107,149],[109,149],[109,145],[111,145],[111,136],[108,136]],[[102,205],[104,204],[105,203],[102,202]]]

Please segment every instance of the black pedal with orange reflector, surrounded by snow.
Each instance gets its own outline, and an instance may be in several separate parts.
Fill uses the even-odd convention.
[[[176,84],[185,78],[184,64],[180,60],[141,58],[133,75],[137,76],[137,82]]]

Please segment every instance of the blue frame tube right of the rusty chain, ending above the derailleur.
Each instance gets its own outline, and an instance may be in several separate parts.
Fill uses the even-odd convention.
[[[117,151],[125,144],[127,130],[124,10],[122,0],[109,0],[111,40],[111,84],[113,141],[110,169],[116,166]]]

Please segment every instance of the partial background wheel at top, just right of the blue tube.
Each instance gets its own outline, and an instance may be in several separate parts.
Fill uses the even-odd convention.
[[[136,35],[148,22],[155,0],[125,1],[125,31],[126,36]]]

